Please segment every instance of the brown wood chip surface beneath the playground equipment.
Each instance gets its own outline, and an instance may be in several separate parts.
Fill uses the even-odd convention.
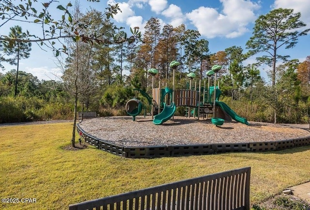
[[[174,116],[154,125],[151,116],[97,117],[79,123],[86,133],[120,146],[236,144],[310,138],[309,125],[226,122],[215,126],[211,119]]]

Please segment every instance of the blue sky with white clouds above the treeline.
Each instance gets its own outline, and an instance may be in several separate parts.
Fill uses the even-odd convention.
[[[67,2],[69,1],[61,1],[63,5]],[[310,0],[101,0],[100,2],[80,0],[81,8],[84,10],[95,8],[104,11],[108,4],[115,3],[119,3],[122,10],[122,13],[116,15],[114,19],[117,26],[122,26],[126,30],[129,27],[139,26],[143,32],[146,22],[152,16],[159,18],[162,26],[171,24],[176,27],[184,23],[186,29],[198,30],[202,34],[201,38],[209,41],[211,53],[232,46],[240,46],[246,52],[246,42],[252,36],[255,20],[275,8],[292,8],[294,12],[300,12],[301,20],[310,28]],[[54,7],[57,5],[56,3]],[[0,35],[7,35],[9,27],[10,25],[1,27]],[[22,28],[23,31],[35,30],[26,24],[23,24]],[[299,38],[294,49],[283,48],[280,53],[303,62],[310,55],[310,35]],[[55,79],[55,74],[61,75],[55,60],[51,51],[48,49],[47,52],[43,51],[33,44],[30,58],[21,60],[19,69],[37,76],[39,80]],[[253,63],[254,60],[254,57],[248,59],[245,65]],[[7,64],[4,66],[6,70],[16,68]],[[265,78],[266,70],[269,70],[268,66],[261,67],[262,76]]]

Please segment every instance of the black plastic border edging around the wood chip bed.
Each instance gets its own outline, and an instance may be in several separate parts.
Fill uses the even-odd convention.
[[[223,144],[201,144],[201,145],[154,145],[154,146],[121,146],[98,139],[86,133],[77,124],[78,132],[82,132],[85,142],[124,158],[158,158],[175,157],[186,155],[207,155],[224,152],[264,152],[277,151],[298,146],[310,145],[310,136],[270,141],[270,142],[250,142],[250,143],[223,143]]]

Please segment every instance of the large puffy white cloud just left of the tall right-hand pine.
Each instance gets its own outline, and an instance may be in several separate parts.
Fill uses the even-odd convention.
[[[250,0],[220,0],[222,13],[214,8],[199,7],[186,17],[207,38],[225,36],[234,38],[248,32],[247,25],[257,18],[254,11],[260,6]]]

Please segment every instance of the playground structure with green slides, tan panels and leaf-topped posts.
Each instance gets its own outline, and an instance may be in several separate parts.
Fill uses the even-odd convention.
[[[216,86],[216,88],[215,86],[210,86],[210,77],[207,87],[206,81],[203,82],[202,87],[202,81],[199,80],[199,87],[197,88],[197,82],[195,82],[195,86],[192,87],[192,79],[195,77],[195,74],[190,73],[187,75],[190,79],[189,88],[186,87],[186,89],[175,90],[174,70],[176,66],[172,66],[172,89],[168,87],[160,88],[160,81],[158,84],[158,88],[154,88],[154,76],[157,71],[156,69],[149,70],[152,75],[152,97],[140,89],[134,89],[139,91],[143,97],[147,98],[149,105],[151,105],[151,115],[152,119],[154,118],[153,123],[155,125],[161,125],[167,120],[169,120],[171,117],[173,117],[177,106],[187,107],[186,115],[188,116],[188,118],[191,116],[197,117],[198,119],[200,117],[208,118],[208,114],[212,114],[214,118],[212,120],[212,123],[217,126],[222,125],[224,123],[224,120],[231,121],[232,119],[248,125],[248,121],[246,118],[239,116],[227,104],[219,101],[221,91],[218,89],[218,86]],[[220,68],[221,66],[219,65],[213,66],[213,69],[215,70],[219,70]],[[208,76],[213,74],[215,74],[214,83],[216,84],[216,73],[213,70],[207,72]],[[138,100],[137,98],[133,98],[126,103],[126,112],[129,115],[133,116],[133,120],[135,120],[135,117],[141,113],[143,107],[145,116],[145,106],[140,100]]]

